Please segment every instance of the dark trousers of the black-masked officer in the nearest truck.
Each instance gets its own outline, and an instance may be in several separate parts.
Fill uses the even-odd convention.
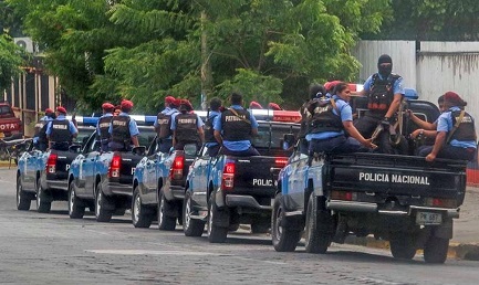
[[[366,113],[364,116],[354,122],[354,126],[357,131],[363,135],[364,138],[371,138],[377,125],[381,124],[383,117],[374,116]],[[379,136],[376,138],[376,145],[378,147],[377,151],[382,154],[395,154],[393,145],[391,144],[391,134],[388,129],[381,131]]]

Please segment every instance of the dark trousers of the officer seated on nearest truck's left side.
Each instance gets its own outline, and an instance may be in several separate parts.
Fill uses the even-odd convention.
[[[346,138],[344,135],[326,138],[326,139],[311,139],[309,154],[327,152],[327,154],[350,154],[367,151],[355,138]]]

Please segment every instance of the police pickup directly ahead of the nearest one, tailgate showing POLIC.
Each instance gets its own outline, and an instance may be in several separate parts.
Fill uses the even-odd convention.
[[[270,115],[253,112],[259,134],[252,145],[260,156],[211,158],[202,149],[195,159],[185,186],[185,235],[200,236],[206,223],[212,243],[225,242],[228,232],[239,224],[250,224],[253,233],[269,230],[275,176],[291,155],[283,149],[283,134],[298,134],[299,124],[291,122],[301,117],[298,112],[267,112]]]

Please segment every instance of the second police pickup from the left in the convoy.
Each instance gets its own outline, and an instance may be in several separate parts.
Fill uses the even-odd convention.
[[[129,209],[135,166],[143,158],[144,146],[155,137],[153,123],[156,119],[146,116],[144,122],[148,126],[144,126],[139,116],[132,117],[138,123],[140,147],[132,151],[102,152],[94,133],[73,160],[67,179],[71,219],[82,219],[88,207],[95,210],[96,221],[110,222],[113,214],[124,214]]]

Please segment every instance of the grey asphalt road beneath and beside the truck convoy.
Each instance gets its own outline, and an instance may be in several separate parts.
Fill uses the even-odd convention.
[[[0,169],[0,283],[7,284],[477,284],[477,262],[429,265],[389,252],[333,244],[314,255],[278,253],[267,235],[230,234],[226,244],[181,230],[134,229],[127,215],[70,220],[15,209],[14,170]]]

